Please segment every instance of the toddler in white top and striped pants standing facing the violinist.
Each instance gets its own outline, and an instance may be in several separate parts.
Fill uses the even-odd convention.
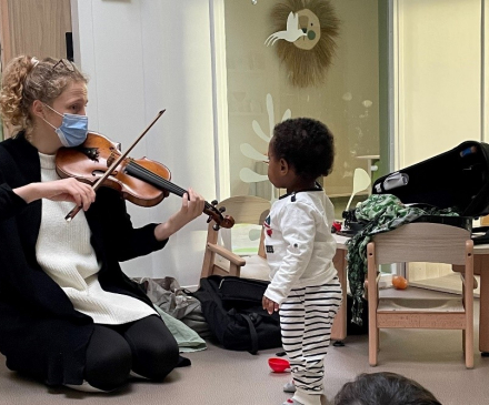
[[[283,405],[320,405],[325,356],[331,325],[341,305],[341,285],[332,263],[333,205],[317,183],[331,172],[333,136],[321,122],[289,119],[276,125],[269,144],[268,178],[287,194],[273,203],[265,223],[271,282],[262,304],[280,308],[283,350],[295,392]]]

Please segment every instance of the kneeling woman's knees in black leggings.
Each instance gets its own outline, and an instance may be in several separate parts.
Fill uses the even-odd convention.
[[[131,369],[161,381],[178,358],[177,341],[157,315],[123,325],[97,324],[87,347],[84,379],[103,391],[123,385]]]

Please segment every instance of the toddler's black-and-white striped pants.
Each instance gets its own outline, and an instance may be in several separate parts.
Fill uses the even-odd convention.
[[[280,305],[283,350],[296,388],[305,394],[322,394],[325,356],[341,298],[341,285],[335,277],[328,284],[293,288]]]

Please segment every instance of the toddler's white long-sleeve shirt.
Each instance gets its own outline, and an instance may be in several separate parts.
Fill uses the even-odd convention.
[[[290,290],[326,284],[337,275],[333,221],[333,205],[322,189],[287,194],[273,203],[265,221],[268,298],[281,304]]]

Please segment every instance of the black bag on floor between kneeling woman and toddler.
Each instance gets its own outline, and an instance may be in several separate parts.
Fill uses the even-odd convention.
[[[280,320],[268,314],[261,300],[269,283],[261,280],[211,275],[193,293],[210,331],[224,348],[248,351],[281,347]]]

